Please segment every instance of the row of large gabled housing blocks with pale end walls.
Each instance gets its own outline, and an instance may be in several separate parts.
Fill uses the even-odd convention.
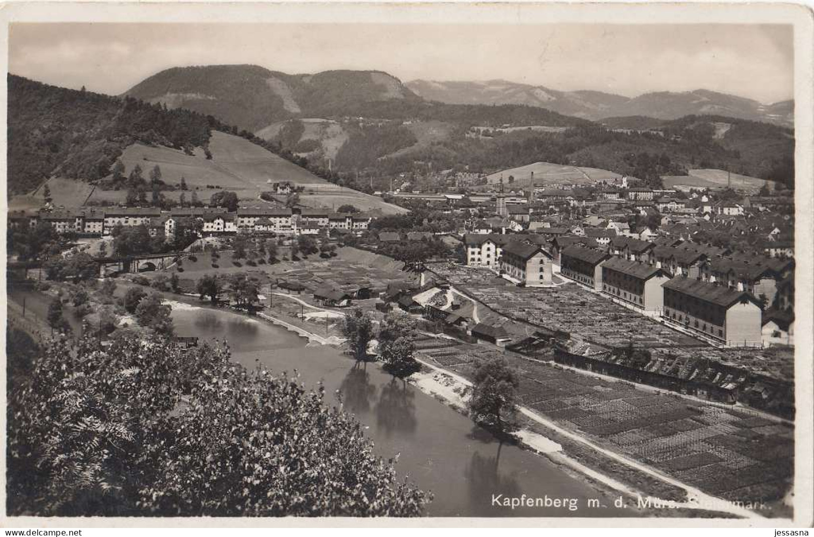
[[[619,239],[601,248],[534,235],[466,235],[466,264],[497,268],[526,286],[547,286],[558,262],[560,276],[726,346],[763,343],[764,324],[778,322],[764,316],[769,304],[777,312],[793,309],[793,260],[744,260],[693,242],[657,246]],[[790,332],[788,324],[783,328]]]

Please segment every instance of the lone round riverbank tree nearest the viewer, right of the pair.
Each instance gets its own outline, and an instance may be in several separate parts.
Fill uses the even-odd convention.
[[[517,373],[503,358],[481,362],[468,404],[472,421],[501,433],[514,430],[519,385]]]

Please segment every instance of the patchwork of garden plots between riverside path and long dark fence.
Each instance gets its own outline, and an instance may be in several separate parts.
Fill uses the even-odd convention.
[[[504,357],[519,372],[524,406],[711,495],[780,500],[790,488],[794,429],[784,423],[527,360],[490,345],[424,338],[417,347],[431,362],[466,378],[480,361]]]

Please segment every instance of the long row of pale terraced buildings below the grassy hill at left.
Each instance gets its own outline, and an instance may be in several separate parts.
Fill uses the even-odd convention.
[[[319,234],[322,229],[364,230],[370,216],[364,213],[331,212],[323,209],[285,207],[193,207],[162,211],[152,207],[81,208],[74,210],[11,212],[12,229],[50,224],[58,233],[90,237],[110,235],[117,226],[147,226],[152,235],[172,237],[179,225],[199,220],[203,234],[277,233]]]

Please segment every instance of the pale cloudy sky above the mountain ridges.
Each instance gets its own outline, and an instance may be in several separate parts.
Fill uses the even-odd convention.
[[[634,97],[794,94],[792,27],[768,24],[12,24],[9,71],[121,94],[165,68],[375,69],[401,81],[503,79]]]

